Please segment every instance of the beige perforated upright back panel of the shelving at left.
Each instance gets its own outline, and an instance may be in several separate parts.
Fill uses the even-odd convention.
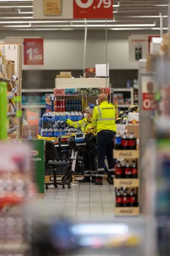
[[[6,60],[14,61],[15,76],[18,77],[15,82],[17,88],[17,96],[21,99],[21,81],[22,81],[22,69],[21,69],[21,44],[18,43],[0,43],[0,50],[5,50]],[[21,111],[21,101],[16,102],[16,110]],[[17,140],[21,139],[22,132],[21,117],[17,117]]]

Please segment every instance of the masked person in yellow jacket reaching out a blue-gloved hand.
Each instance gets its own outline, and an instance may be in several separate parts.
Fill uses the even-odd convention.
[[[66,122],[67,124],[69,124],[70,126],[73,126],[74,128],[81,128],[82,132],[85,132],[90,127],[92,127],[92,115],[93,115],[93,109],[86,108],[84,118],[80,121],[73,122],[70,119],[67,119],[65,117],[61,117],[60,120]],[[84,153],[83,158],[84,158],[85,176],[82,180],[79,180],[78,182],[94,183],[96,181],[96,174],[97,174],[97,166],[95,161],[96,149],[89,148],[83,153]],[[90,179],[90,176],[92,176],[92,180]]]

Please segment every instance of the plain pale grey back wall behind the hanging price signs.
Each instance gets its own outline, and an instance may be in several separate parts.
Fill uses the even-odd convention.
[[[110,69],[138,69],[138,63],[129,62],[128,36],[131,34],[156,34],[148,31],[107,32],[107,62]],[[6,36],[44,38],[44,65],[25,66],[23,70],[75,70],[83,69],[84,30],[68,31],[2,31],[0,41]],[[86,67],[106,63],[106,44],[104,30],[88,30]]]

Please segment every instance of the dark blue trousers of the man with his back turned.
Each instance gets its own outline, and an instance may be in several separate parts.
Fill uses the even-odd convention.
[[[101,180],[104,171],[105,171],[105,156],[107,158],[108,162],[108,175],[110,177],[113,177],[114,175],[114,166],[115,161],[113,158],[113,149],[114,149],[114,136],[115,132],[108,131],[106,132],[98,132],[97,133],[97,156],[98,156],[98,174],[97,174],[97,180]]]

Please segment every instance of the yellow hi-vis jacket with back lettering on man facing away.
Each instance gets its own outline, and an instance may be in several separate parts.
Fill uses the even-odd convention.
[[[99,106],[94,108],[92,124],[97,132],[102,130],[116,132],[115,113],[115,106],[107,101],[101,102]]]

